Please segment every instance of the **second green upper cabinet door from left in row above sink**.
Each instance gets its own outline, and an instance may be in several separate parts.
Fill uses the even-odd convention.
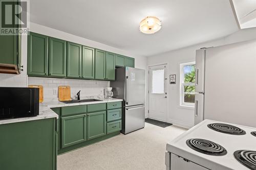
[[[66,41],[49,38],[49,76],[66,77]]]

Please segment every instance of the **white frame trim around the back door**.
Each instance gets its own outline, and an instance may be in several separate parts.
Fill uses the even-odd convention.
[[[160,66],[160,65],[166,65],[166,78],[169,81],[169,76],[168,76],[168,62],[166,63],[158,63],[158,64],[154,64],[154,65],[147,65],[147,117],[150,118],[150,67],[153,66]],[[169,83],[168,83],[169,85]],[[166,117],[165,117],[165,121],[166,123],[168,123],[168,113],[169,113],[169,86],[166,87],[166,92],[167,92],[167,108],[166,108]],[[158,120],[158,119],[156,119]],[[163,122],[163,120],[159,120],[161,122]]]

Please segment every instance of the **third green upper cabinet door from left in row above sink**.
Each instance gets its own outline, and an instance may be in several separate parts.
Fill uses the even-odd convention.
[[[67,77],[82,77],[82,45],[68,42],[67,47]]]

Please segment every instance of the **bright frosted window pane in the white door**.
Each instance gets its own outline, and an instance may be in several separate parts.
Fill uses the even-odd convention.
[[[164,69],[152,70],[152,93],[164,93]]]

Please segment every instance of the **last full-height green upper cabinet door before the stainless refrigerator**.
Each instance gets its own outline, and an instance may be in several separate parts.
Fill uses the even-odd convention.
[[[106,80],[115,80],[115,54],[106,52]]]

